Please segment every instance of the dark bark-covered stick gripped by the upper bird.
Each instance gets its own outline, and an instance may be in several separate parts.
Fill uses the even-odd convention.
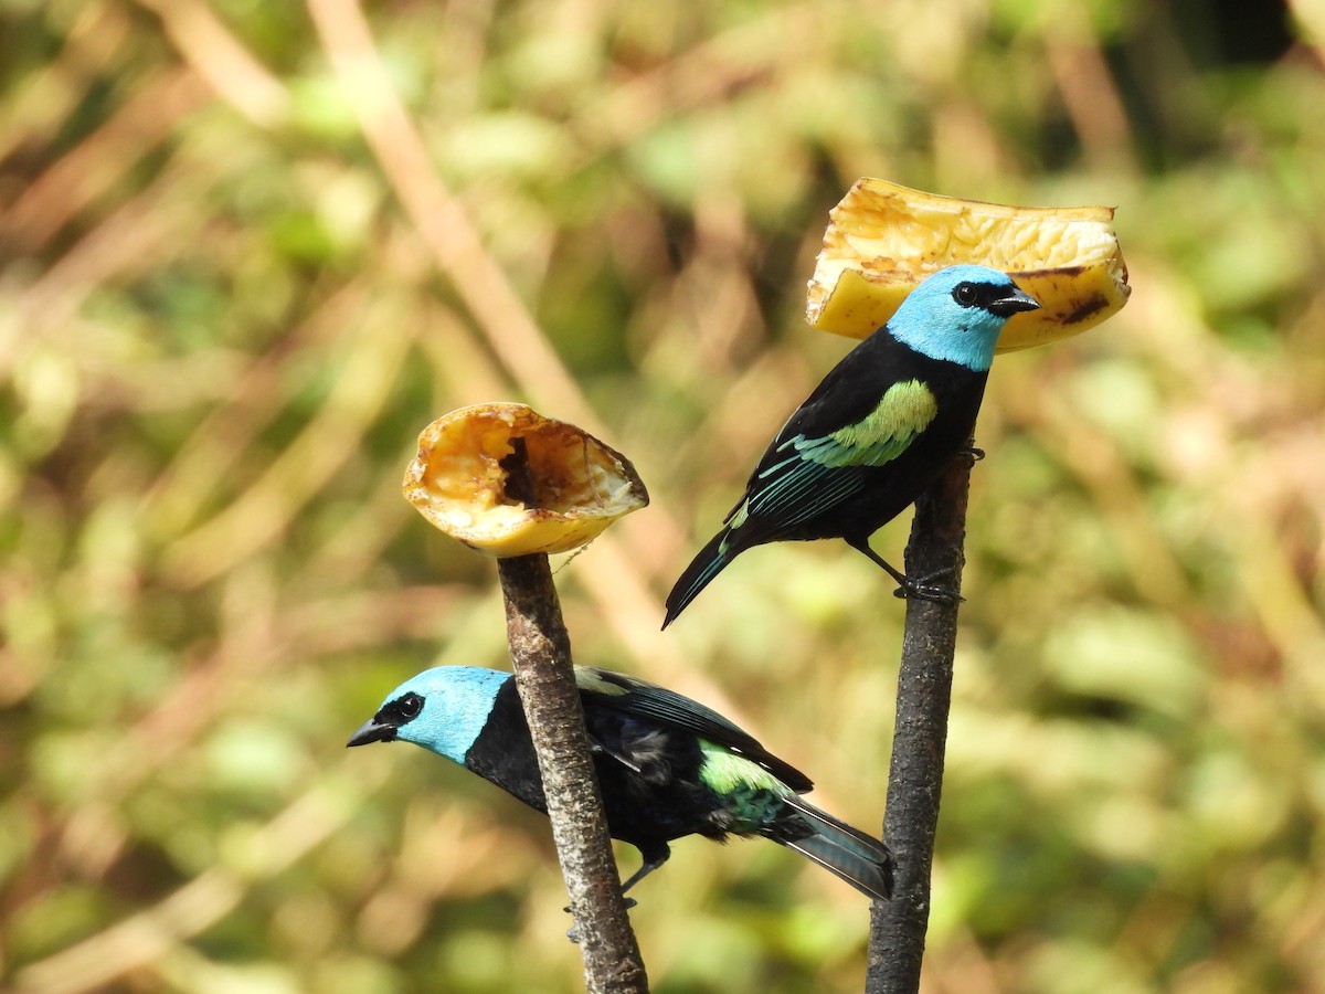
[[[953,584],[961,590],[970,480],[970,460],[954,459],[916,502],[906,545],[909,575],[922,577],[953,567]],[[893,900],[874,901],[871,912],[865,994],[916,994],[920,990],[953,700],[957,608],[955,603],[906,602],[884,818],[884,839],[896,860],[896,883]]]

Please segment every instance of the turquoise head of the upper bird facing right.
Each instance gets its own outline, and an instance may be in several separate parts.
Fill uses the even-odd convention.
[[[949,266],[910,292],[888,330],[922,355],[983,372],[994,362],[994,346],[1007,319],[1039,306],[1007,273],[987,266]]]

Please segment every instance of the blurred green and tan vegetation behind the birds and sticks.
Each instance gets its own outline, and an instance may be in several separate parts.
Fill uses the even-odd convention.
[[[652,490],[559,573],[579,661],[877,830],[876,567],[766,547],[657,631],[851,345],[804,281],[873,175],[1117,204],[1134,286],[995,364],[926,990],[1325,990],[1322,56],[1320,0],[0,0],[0,986],[579,987],[546,822],[343,749],[506,665],[399,493],[470,402]],[[778,847],[639,896],[659,991],[863,983],[865,904]]]

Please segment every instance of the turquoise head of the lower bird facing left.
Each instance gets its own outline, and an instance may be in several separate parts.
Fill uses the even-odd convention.
[[[400,684],[346,745],[401,740],[465,762],[488,724],[510,673],[477,667],[436,667]]]

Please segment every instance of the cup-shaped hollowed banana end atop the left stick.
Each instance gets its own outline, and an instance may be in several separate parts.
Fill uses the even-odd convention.
[[[517,439],[525,469],[511,461]],[[625,456],[507,403],[462,407],[424,428],[401,486],[433,526],[496,558],[578,549],[649,502]]]

